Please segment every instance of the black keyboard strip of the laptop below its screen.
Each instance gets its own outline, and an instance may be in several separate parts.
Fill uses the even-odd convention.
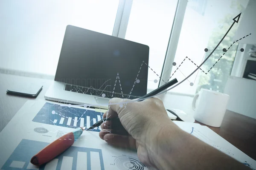
[[[113,98],[113,97],[118,97],[118,98],[123,98],[123,99],[139,98],[138,96],[130,95],[130,97],[128,97],[127,94],[119,94],[119,93],[115,93],[115,92],[113,93],[113,92],[110,92],[110,91],[103,91],[103,90],[100,90],[100,89],[86,88],[86,87],[82,87],[82,86],[69,85],[69,84],[65,85],[65,91],[72,91],[72,92],[81,93],[81,94],[90,94],[90,95],[94,95],[94,96],[102,96],[102,94],[105,94],[106,98]]]

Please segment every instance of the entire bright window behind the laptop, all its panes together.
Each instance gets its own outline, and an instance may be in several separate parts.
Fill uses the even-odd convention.
[[[181,2],[182,8],[177,6]],[[151,91],[162,81],[159,76],[165,58],[171,61],[166,51],[176,9],[180,9],[185,16],[181,29],[177,26],[180,37],[173,65],[168,69],[172,70],[172,79],[181,81],[210,54],[233,23],[233,17],[246,8],[248,0],[189,0],[186,10],[184,2],[186,0],[2,0],[0,68],[55,75],[65,27],[70,24],[109,35],[114,32],[115,36],[148,45],[149,63],[146,64],[150,67],[148,91]],[[233,26],[203,65],[202,70],[210,70],[209,73],[198,70],[172,92],[194,95],[201,88],[223,92],[239,42],[220,62],[212,65],[223,54],[223,48],[227,49],[233,42],[238,25]],[[208,51],[204,51],[205,48]],[[163,75],[169,77],[166,72]]]

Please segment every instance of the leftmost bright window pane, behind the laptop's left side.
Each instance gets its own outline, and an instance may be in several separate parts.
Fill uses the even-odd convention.
[[[111,35],[119,0],[1,0],[0,68],[55,75],[67,25]]]

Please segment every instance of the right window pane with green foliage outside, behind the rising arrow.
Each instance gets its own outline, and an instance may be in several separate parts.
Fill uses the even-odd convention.
[[[185,11],[172,66],[173,77],[181,81],[195,70],[196,65],[200,65],[215,48],[233,23],[232,19],[244,10],[247,3],[248,0],[190,0]],[[174,88],[173,92],[193,95],[201,88],[224,91],[233,66],[238,42],[219,61],[218,59],[224,53],[223,49],[229,48],[232,44],[238,25],[239,23],[236,23],[232,27],[217,50],[201,67],[204,72],[210,70],[209,73],[205,74],[198,70],[189,79]],[[215,64],[216,61],[218,62]],[[213,66],[213,64],[215,65]]]

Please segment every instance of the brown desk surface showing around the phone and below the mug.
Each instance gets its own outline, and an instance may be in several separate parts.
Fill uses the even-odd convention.
[[[6,94],[9,85],[23,81],[39,82],[44,86],[38,97],[32,99],[38,100],[44,99],[44,94],[53,80],[0,74],[0,131],[3,130],[25,102],[31,99]],[[227,111],[221,127],[208,127],[252,159],[256,160],[256,119],[232,111]]]

